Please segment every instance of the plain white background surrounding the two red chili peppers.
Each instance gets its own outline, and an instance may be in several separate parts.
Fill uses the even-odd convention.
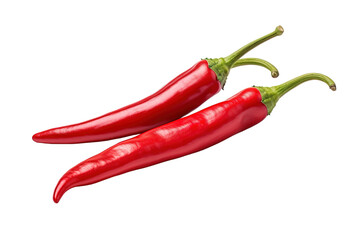
[[[357,1],[1,1],[1,239],[359,239]],[[259,125],[202,152],[74,188],[69,168],[119,140],[31,136],[140,100],[204,57],[257,47],[224,91],[308,72]]]

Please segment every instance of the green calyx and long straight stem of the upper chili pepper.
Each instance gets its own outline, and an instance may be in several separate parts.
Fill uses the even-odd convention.
[[[229,75],[230,69],[234,67],[234,64],[247,52],[256,46],[260,45],[267,40],[270,40],[276,36],[280,36],[284,32],[284,29],[281,26],[278,26],[273,32],[245,45],[236,52],[230,54],[225,58],[205,58],[211,68],[221,83],[221,87],[224,88],[226,83],[227,76]],[[250,64],[250,63],[249,63]],[[246,65],[246,64],[243,64]],[[258,64],[255,64],[258,65]]]

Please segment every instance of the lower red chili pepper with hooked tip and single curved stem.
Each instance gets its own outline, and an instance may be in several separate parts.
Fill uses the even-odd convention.
[[[247,88],[227,101],[149,130],[79,163],[60,179],[54,201],[70,188],[188,155],[217,144],[262,121],[281,96],[317,79],[336,90],[325,75],[310,73],[275,87]]]

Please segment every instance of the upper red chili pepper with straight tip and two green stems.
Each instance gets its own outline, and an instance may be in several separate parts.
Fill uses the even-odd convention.
[[[219,92],[232,67],[255,64],[274,69],[260,59],[237,60],[254,47],[282,33],[283,28],[279,26],[274,32],[245,45],[228,57],[198,62],[143,100],[82,123],[37,133],[33,140],[41,143],[109,140],[141,133],[178,119]],[[273,71],[272,75],[276,77],[277,71]]]

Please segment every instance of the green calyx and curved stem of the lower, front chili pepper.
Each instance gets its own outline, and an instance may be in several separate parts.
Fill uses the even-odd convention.
[[[320,73],[304,74],[274,87],[256,87],[256,88],[259,89],[262,97],[262,102],[265,104],[266,108],[268,109],[268,114],[270,114],[274,109],[277,101],[282,96],[284,96],[285,93],[309,80],[320,80],[326,83],[331,90],[333,91],[336,90],[335,82],[328,76],[325,76]]]

